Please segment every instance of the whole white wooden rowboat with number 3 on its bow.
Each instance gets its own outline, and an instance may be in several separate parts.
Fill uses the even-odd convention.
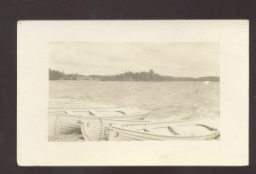
[[[220,136],[216,127],[207,123],[216,118],[182,119],[166,122],[111,125],[109,141],[207,140]]]

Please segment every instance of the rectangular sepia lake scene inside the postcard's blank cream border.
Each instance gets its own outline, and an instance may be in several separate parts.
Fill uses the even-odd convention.
[[[219,43],[49,42],[49,142],[218,141]]]

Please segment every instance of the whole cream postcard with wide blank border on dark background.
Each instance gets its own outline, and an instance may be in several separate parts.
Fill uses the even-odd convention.
[[[17,163],[247,165],[248,24],[19,21]]]

